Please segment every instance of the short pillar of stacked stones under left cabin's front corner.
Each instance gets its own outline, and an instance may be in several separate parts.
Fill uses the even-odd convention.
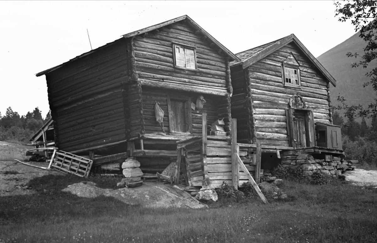
[[[135,187],[143,185],[141,177],[143,172],[140,170],[140,162],[134,157],[129,157],[122,164],[123,175],[125,178],[122,179],[116,186],[118,188],[122,187]]]

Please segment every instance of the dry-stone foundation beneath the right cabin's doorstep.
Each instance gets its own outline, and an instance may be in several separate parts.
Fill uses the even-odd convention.
[[[320,170],[329,175],[339,176],[346,170],[354,170],[356,168],[354,164],[357,163],[359,163],[358,160],[343,160],[336,156],[326,156],[326,159],[316,159],[311,154],[293,154],[292,151],[288,151],[282,156],[283,167],[300,166],[303,169],[304,176],[312,176],[315,170]]]

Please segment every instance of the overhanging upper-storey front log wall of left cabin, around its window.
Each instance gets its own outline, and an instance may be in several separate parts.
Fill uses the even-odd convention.
[[[174,66],[173,43],[196,47],[197,70]],[[225,54],[185,21],[139,35],[134,39],[134,46],[136,68],[141,79],[222,91],[227,91],[230,86]]]

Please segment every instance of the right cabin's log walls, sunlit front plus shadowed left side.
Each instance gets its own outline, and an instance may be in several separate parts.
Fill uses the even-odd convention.
[[[282,81],[281,65],[290,53],[300,64],[300,88],[284,86]],[[265,145],[289,147],[286,109],[297,92],[307,109],[313,110],[314,122],[331,123],[328,82],[295,44],[287,44],[243,71],[245,77],[241,65],[231,69],[232,116],[238,118],[239,142],[256,138]]]

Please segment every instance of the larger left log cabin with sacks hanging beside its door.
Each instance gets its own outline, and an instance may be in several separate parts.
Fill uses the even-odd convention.
[[[176,161],[177,141],[210,132],[203,113],[205,124],[224,121],[229,140],[231,61],[239,59],[184,15],[37,73],[46,76],[55,147],[94,165],[132,156],[144,173],[161,173]]]

